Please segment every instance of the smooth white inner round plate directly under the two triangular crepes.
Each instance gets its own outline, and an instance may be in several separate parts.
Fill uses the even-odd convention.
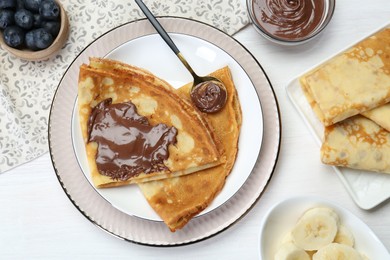
[[[200,75],[206,75],[223,66],[229,66],[239,98],[245,97],[245,102],[241,102],[243,117],[236,162],[231,174],[226,179],[224,188],[213,202],[201,212],[200,215],[203,215],[229,200],[252,172],[260,153],[263,138],[262,111],[259,97],[251,80],[228,53],[214,44],[194,36],[176,33],[171,34],[171,37],[192,68]],[[147,69],[154,75],[168,81],[175,88],[192,81],[191,74],[158,34],[126,42],[106,57]],[[92,184],[76,108],[77,105],[72,120],[73,146],[82,171]],[[131,216],[161,221],[137,185],[96,189],[96,191],[114,207]]]

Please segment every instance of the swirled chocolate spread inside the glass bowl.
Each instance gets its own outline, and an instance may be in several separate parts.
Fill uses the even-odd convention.
[[[253,13],[264,31],[277,38],[299,40],[310,35],[324,16],[324,0],[254,0]]]

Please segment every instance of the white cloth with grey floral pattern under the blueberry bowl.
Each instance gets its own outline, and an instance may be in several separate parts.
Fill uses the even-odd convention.
[[[234,34],[248,16],[240,0],[145,0],[157,16],[191,18]],[[48,151],[48,117],[57,85],[92,40],[144,17],[133,0],[63,0],[70,23],[65,46],[45,61],[24,61],[0,47],[0,173]]]

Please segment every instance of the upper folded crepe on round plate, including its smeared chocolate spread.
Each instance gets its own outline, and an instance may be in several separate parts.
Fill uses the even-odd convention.
[[[92,59],[80,68],[79,120],[96,187],[175,177],[222,162],[194,107],[150,72],[120,64]]]

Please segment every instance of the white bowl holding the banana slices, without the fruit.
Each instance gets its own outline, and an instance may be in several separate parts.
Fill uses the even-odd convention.
[[[372,230],[347,209],[319,197],[294,197],[272,207],[261,223],[260,259],[273,259],[283,237],[294,227],[302,214],[313,207],[325,206],[336,211],[340,223],[355,238],[355,249],[369,259],[390,259],[385,246]]]

